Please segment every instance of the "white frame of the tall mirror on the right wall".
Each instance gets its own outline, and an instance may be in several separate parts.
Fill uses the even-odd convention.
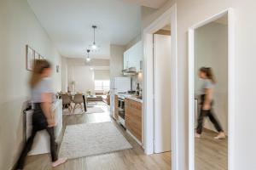
[[[189,170],[195,170],[195,131],[194,131],[194,102],[195,102],[195,71],[194,71],[194,43],[195,43],[195,29],[207,25],[213,20],[217,20],[228,14],[229,28],[228,28],[228,120],[229,120],[229,170],[234,169],[234,117],[235,117],[235,19],[234,19],[234,9],[228,8],[224,11],[213,15],[207,20],[203,20],[195,26],[189,28]],[[233,142],[232,142],[233,141]]]

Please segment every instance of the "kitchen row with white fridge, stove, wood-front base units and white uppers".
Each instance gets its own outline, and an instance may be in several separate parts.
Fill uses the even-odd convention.
[[[138,40],[123,54],[122,77],[110,85],[110,113],[143,146],[143,42]]]

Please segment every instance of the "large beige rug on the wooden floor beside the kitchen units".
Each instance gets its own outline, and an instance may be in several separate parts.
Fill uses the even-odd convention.
[[[88,123],[66,127],[59,156],[75,159],[131,148],[112,122]]]

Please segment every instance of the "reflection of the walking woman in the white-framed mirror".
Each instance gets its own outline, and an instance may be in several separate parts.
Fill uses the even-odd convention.
[[[204,80],[204,83],[201,88],[201,111],[198,117],[195,137],[201,137],[204,118],[208,116],[210,121],[213,123],[214,127],[218,131],[218,136],[216,136],[214,139],[224,139],[224,130],[220,126],[216,116],[212,113],[212,94],[214,85],[216,83],[212,73],[212,68],[201,67],[199,71],[199,77]]]

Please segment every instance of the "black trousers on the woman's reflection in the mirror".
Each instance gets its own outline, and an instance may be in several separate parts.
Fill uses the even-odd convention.
[[[209,117],[210,121],[213,123],[214,127],[216,128],[216,130],[218,132],[223,132],[223,128],[220,126],[220,123],[218,122],[218,119],[216,118],[216,116],[212,112],[212,109],[210,109],[208,111],[204,111],[202,109],[204,101],[205,101],[205,95],[201,96],[201,101],[202,101],[201,102],[201,111],[200,111],[200,115],[198,116],[198,120],[197,120],[196,133],[201,134],[202,127],[203,127],[203,122],[204,122],[204,117],[206,117],[206,116]],[[212,104],[211,104],[211,107],[212,107]]]

